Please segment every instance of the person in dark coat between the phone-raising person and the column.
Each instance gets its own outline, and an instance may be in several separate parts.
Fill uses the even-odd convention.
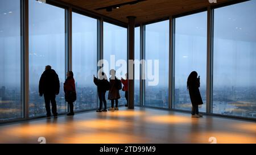
[[[115,70],[110,70],[110,79],[109,79],[109,97],[111,100],[111,108],[109,111],[118,110],[118,99],[120,98],[119,90],[122,89],[122,82],[117,77],[115,77]],[[114,107],[115,102],[115,107]]]

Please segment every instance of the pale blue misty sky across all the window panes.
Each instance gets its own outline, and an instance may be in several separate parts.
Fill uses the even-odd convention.
[[[19,0],[0,1],[0,87],[20,86]],[[29,1],[30,83],[38,84],[45,65],[65,78],[65,11]],[[256,86],[256,1],[214,10],[214,86]],[[3,22],[4,21],[4,22]],[[146,59],[160,60],[159,86],[168,86],[169,21],[146,26]],[[97,20],[73,13],[73,70],[78,85],[96,74]],[[139,28],[135,30],[139,57]],[[184,87],[192,70],[206,80],[207,13],[176,19],[175,85]],[[127,58],[127,30],[104,22],[104,58]]]

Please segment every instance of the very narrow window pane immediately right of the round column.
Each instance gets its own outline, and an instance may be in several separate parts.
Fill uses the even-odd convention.
[[[141,61],[141,47],[140,47],[140,27],[135,27],[134,33],[134,104],[140,105],[140,61]]]

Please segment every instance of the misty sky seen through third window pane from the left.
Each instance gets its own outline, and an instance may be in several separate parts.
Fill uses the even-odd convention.
[[[77,85],[92,86],[97,73],[97,19],[72,14],[72,70]]]

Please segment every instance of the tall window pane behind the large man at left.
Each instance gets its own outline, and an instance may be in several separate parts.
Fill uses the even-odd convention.
[[[35,0],[29,1],[29,111],[30,116],[45,115],[38,84],[46,65],[51,65],[60,79],[56,96],[58,112],[65,112],[65,10]]]

